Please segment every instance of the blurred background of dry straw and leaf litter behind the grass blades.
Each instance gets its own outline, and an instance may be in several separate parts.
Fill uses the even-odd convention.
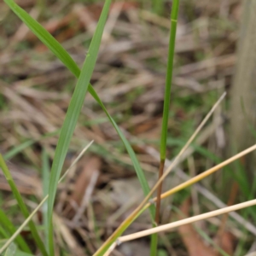
[[[17,0],[82,66],[103,1]],[[152,186],[160,128],[172,1],[113,2],[91,84],[125,133]],[[256,4],[253,0],[181,0],[177,22],[167,158],[172,160],[219,96],[224,102],[179,166],[171,189],[253,145],[256,124]],[[0,150],[31,209],[43,196],[42,151],[49,165],[76,79],[0,3]],[[55,201],[59,255],[92,255],[143,199],[129,155],[102,108],[87,93],[65,169],[94,143],[60,184]],[[167,162],[168,163],[168,162]],[[225,167],[164,200],[161,224],[252,199],[255,157]],[[19,208],[0,173],[0,205],[15,225]],[[255,209],[254,209],[255,210]],[[256,250],[253,208],[160,234],[159,255],[245,255]],[[42,212],[36,217],[42,224]],[[151,227],[148,212],[125,233]],[[22,233],[26,239],[30,233]],[[113,255],[149,255],[149,237]],[[195,247],[195,244],[197,245]]]

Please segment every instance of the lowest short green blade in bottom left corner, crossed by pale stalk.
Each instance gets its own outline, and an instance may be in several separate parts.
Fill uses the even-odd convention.
[[[3,225],[3,228],[9,232],[10,235],[13,235],[16,231],[14,224],[9,220],[6,214],[0,209],[0,223]],[[32,253],[26,241],[22,236],[17,236],[15,242],[25,253]]]

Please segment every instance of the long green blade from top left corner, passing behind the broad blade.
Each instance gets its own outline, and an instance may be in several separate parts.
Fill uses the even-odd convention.
[[[42,41],[42,43],[45,44],[45,46],[47,46],[77,78],[79,78],[80,70],[78,65],[75,63],[75,61],[73,61],[72,57],[61,46],[61,44],[56,41],[56,39],[53,38],[53,36],[48,31],[45,30],[44,26],[41,26],[38,21],[34,20],[30,15],[28,15],[26,11],[21,9],[20,6],[17,5],[13,0],[4,0],[4,2],[9,5],[9,8],[15,12],[15,15],[17,15],[20,20],[22,20],[26,24],[26,26],[30,28],[30,30]],[[91,84],[89,84],[88,91],[90,92],[90,95],[93,96],[96,102],[100,105],[104,113],[106,113],[114,129],[117,131],[122,142],[125,144],[125,148],[131,157],[133,166],[135,168],[135,171],[137,172],[137,177],[143,188],[143,193],[144,195],[148,195],[150,191],[148,182],[146,180],[146,177],[144,176],[141,166],[139,165],[136,154],[131,148],[130,143],[127,141],[124,134],[119,129],[119,126],[115,123],[114,119],[108,113],[107,108],[105,108],[100,97],[96,94],[96,91],[93,89]],[[154,220],[154,206],[150,207],[150,213],[152,220]]]

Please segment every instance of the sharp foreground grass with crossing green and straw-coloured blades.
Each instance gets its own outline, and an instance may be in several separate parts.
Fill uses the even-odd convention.
[[[137,160],[137,156],[131,147],[131,144],[125,138],[123,132],[119,129],[119,126],[116,124],[112,116],[108,113],[107,108],[104,106],[101,98],[97,95],[96,90],[90,84],[90,79],[92,73],[95,69],[96,58],[101,46],[102,35],[105,23],[108,19],[108,12],[111,6],[111,0],[106,0],[104,3],[104,7],[102,9],[102,14],[100,19],[98,20],[98,24],[96,26],[96,31],[94,36],[90,42],[90,47],[85,57],[84,65],[79,70],[78,65],[73,61],[73,58],[67,53],[67,51],[59,44],[55,38],[53,38],[49,32],[47,32],[43,26],[41,26],[36,20],[34,20],[30,15],[26,13],[24,9],[21,9],[13,0],[4,0],[5,3],[9,5],[9,8],[15,12],[20,20],[22,20],[26,26],[47,46],[55,56],[62,61],[62,63],[73,73],[73,75],[78,79],[75,89],[73,91],[73,96],[69,103],[69,107],[67,109],[67,114],[63,125],[61,127],[61,132],[59,135],[58,143],[55,148],[55,157],[51,166],[51,170],[49,172],[49,159],[46,151],[43,150],[42,159],[43,159],[43,181],[44,181],[44,199],[38,204],[32,213],[29,213],[25,202],[23,201],[17,186],[15,185],[15,181],[9,172],[8,166],[6,166],[5,161],[3,160],[2,154],[0,154],[0,167],[3,171],[4,176],[6,177],[10,188],[12,189],[12,193],[15,196],[16,201],[20,207],[20,210],[26,218],[25,222],[20,225],[19,229],[15,229],[14,225],[11,224],[9,218],[6,217],[3,211],[0,211],[0,220],[5,222],[6,229],[11,236],[8,241],[5,242],[3,247],[0,248],[0,253],[4,253],[4,255],[31,255],[31,250],[27,246],[26,241],[20,236],[20,231],[23,230],[26,225],[29,225],[29,229],[32,232],[32,236],[34,241],[36,242],[38,249],[44,256],[54,256],[55,255],[55,239],[54,239],[54,225],[52,224],[53,212],[54,212],[54,204],[55,204],[55,195],[57,191],[58,183],[67,175],[67,172],[70,170],[72,166],[74,166],[84,151],[90,147],[90,144],[84,148],[84,150],[79,154],[79,157],[73,162],[72,166],[64,173],[61,177],[61,170],[63,168],[63,163],[67,155],[67,150],[69,148],[71,139],[73,137],[73,132],[77,125],[79,114],[81,108],[84,104],[84,97],[86,95],[87,90],[90,92],[90,95],[96,100],[99,106],[102,108],[103,112],[107,115],[109,121],[113,125],[114,129],[119,134],[119,137],[122,143],[125,146],[126,151],[131,157],[132,164],[134,166],[135,171],[137,172],[137,178],[141,184],[143,189],[143,193],[145,195],[144,200],[141,204],[136,208],[131,215],[125,219],[125,221],[119,225],[118,229],[113,232],[113,234],[102,244],[94,255],[108,255],[113,251],[113,249],[119,245],[121,242],[131,241],[133,239],[137,239],[139,237],[152,235],[151,240],[151,251],[150,255],[157,255],[157,233],[173,229],[183,224],[190,224],[195,221],[211,218],[212,216],[218,216],[219,214],[224,214],[231,211],[236,211],[245,207],[252,207],[256,205],[255,200],[246,201],[241,204],[237,204],[232,207],[225,207],[224,209],[218,209],[216,211],[207,212],[195,217],[186,218],[171,224],[165,224],[162,226],[156,226],[160,222],[160,201],[166,196],[173,195],[177,191],[181,189],[185,189],[192,185],[193,183],[199,182],[202,178],[211,175],[213,172],[217,172],[220,168],[230,164],[232,161],[237,160],[241,156],[248,154],[256,149],[254,145],[251,148],[247,148],[247,150],[242,151],[240,154],[236,154],[234,157],[229,160],[225,160],[218,166],[214,166],[206,172],[197,175],[189,181],[181,183],[177,187],[170,189],[165,193],[161,193],[162,190],[162,182],[166,178],[166,176],[173,170],[173,168],[177,165],[181,156],[184,152],[189,148],[190,143],[195,139],[198,135],[199,131],[203,125],[207,123],[207,120],[211,117],[213,111],[218,107],[218,104],[223,100],[225,94],[220,97],[218,102],[212,107],[211,111],[207,114],[206,118],[203,119],[201,125],[195,130],[193,135],[189,138],[189,141],[185,143],[177,157],[172,162],[172,165],[169,166],[164,172],[164,166],[166,161],[166,144],[167,144],[167,131],[168,131],[168,119],[169,119],[169,109],[170,109],[170,100],[171,100],[171,88],[172,88],[172,71],[173,71],[173,59],[174,59],[174,49],[175,49],[175,38],[176,38],[176,29],[177,29],[177,14],[179,1],[174,0],[172,3],[172,15],[171,15],[171,33],[169,38],[169,53],[167,58],[167,70],[166,70],[166,90],[165,90],[165,101],[164,101],[164,109],[163,109],[163,119],[161,125],[161,137],[160,137],[160,169],[159,169],[159,179],[158,182],[155,183],[153,189],[149,189],[148,181],[143,173],[143,170]],[[155,4],[159,3],[159,1],[154,1]],[[50,136],[50,135],[49,135]],[[6,159],[9,159],[11,155],[20,152],[23,148],[31,145],[33,141],[28,141],[22,144],[20,148],[6,155]],[[61,177],[61,178],[60,178]],[[49,180],[49,183],[48,183]],[[154,192],[157,190],[157,196],[152,198]],[[251,195],[250,195],[251,196]],[[251,198],[250,198],[251,199]],[[46,201],[47,205],[46,205]],[[154,202],[156,202],[156,207],[154,207]],[[38,234],[38,228],[36,224],[32,221],[33,216],[38,212],[39,208],[44,206],[44,241]],[[122,236],[123,232],[131,225],[131,223],[146,209],[149,208],[151,220],[153,223],[153,228],[149,230],[143,230],[141,232],[137,232],[135,234],[131,234],[128,236]],[[19,246],[22,252],[17,250],[16,244]]]

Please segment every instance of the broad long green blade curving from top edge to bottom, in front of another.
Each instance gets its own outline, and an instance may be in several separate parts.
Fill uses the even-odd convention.
[[[58,180],[61,176],[61,169],[66,158],[67,149],[73,136],[73,131],[79,119],[79,113],[84,104],[84,97],[90,84],[90,78],[93,73],[98,51],[100,49],[102,33],[106,20],[108,18],[108,10],[111,0],[107,0],[102,9],[102,15],[96,26],[96,32],[91,40],[88,53],[86,55],[82,71],[79,75],[73,96],[71,98],[64,123],[61,128],[61,134],[55,149],[55,157],[53,160],[50,178],[49,178],[49,201],[48,201],[48,218],[49,218],[49,253],[54,255],[53,227],[50,221],[53,214],[55,194]]]

